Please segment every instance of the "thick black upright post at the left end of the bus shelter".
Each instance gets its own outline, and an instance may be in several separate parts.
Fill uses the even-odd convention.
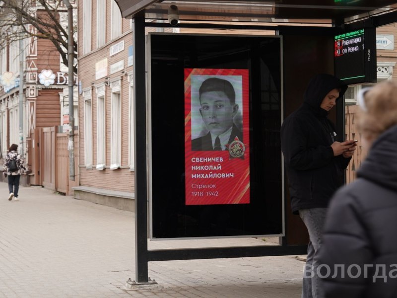
[[[147,179],[146,179],[146,82],[145,82],[145,20],[132,20],[133,100],[135,138],[135,278],[147,283]]]

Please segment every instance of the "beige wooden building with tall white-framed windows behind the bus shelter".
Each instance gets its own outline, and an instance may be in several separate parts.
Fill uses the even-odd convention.
[[[155,20],[153,20],[155,22]],[[299,21],[299,20],[295,20]],[[321,23],[319,21],[319,23]],[[320,24],[329,26],[330,24]],[[146,33],[274,35],[272,30],[148,28]],[[378,28],[396,35],[396,26]],[[132,21],[121,17],[113,0],[78,2],[79,169],[74,196],[99,204],[133,210],[134,119]],[[378,52],[378,77],[393,79],[396,50]],[[382,73],[382,74],[381,74]],[[348,104],[355,104],[362,85],[349,88]]]

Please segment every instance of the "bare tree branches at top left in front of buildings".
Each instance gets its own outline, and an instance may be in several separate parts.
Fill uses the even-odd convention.
[[[76,25],[74,24],[73,27],[75,28]],[[76,32],[76,30],[73,31]],[[60,53],[62,62],[67,66],[67,9],[63,1],[1,0],[0,38],[2,42],[0,42],[0,48],[21,38],[32,37],[50,40]],[[73,49],[74,62],[76,62],[76,38],[73,41]],[[73,70],[74,73],[77,73],[76,63],[73,65]]]

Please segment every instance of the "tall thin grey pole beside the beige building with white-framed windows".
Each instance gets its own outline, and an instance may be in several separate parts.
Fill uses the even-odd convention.
[[[69,87],[69,141],[67,143],[67,150],[69,151],[69,179],[74,181],[74,106],[73,106],[73,6],[69,0],[63,0],[67,7],[67,66],[68,66],[68,87]]]

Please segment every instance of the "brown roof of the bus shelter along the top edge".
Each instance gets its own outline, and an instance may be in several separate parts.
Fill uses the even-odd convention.
[[[144,15],[167,20],[176,4],[180,21],[252,24],[342,25],[376,19],[375,26],[396,22],[396,0],[116,0],[123,17]],[[320,4],[321,3],[321,4]]]

